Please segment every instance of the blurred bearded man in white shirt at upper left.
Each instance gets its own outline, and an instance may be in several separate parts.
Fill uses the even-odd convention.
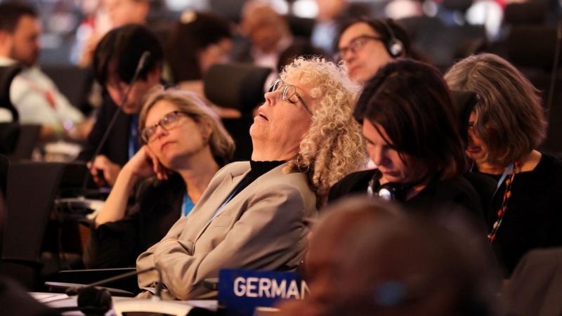
[[[41,125],[41,139],[70,136],[84,139],[91,122],[70,104],[53,81],[36,66],[39,58],[41,21],[34,8],[25,4],[0,4],[0,66],[20,63],[25,69],[16,76],[10,98],[20,123]],[[0,121],[12,121],[0,112]]]

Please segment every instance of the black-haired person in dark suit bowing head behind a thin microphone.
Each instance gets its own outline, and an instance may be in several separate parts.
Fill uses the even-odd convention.
[[[122,166],[138,151],[138,112],[150,88],[160,84],[164,52],[157,37],[141,25],[125,25],[113,29],[96,46],[93,67],[96,80],[107,95],[96,115],[96,123],[90,132],[78,159],[90,161],[100,145],[110,121],[123,103],[129,82],[133,79],[141,55],[150,57],[131,85],[131,93],[118,114],[100,154],[90,166],[93,179],[98,185],[113,186]],[[103,176],[100,176],[103,174]]]

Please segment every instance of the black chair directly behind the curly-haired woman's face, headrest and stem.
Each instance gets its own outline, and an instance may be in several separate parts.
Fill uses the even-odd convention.
[[[270,68],[245,64],[213,65],[204,75],[207,99],[221,107],[242,112],[240,119],[223,119],[236,143],[234,160],[249,160],[252,152],[249,128],[254,122],[251,110],[263,103],[263,93]]]

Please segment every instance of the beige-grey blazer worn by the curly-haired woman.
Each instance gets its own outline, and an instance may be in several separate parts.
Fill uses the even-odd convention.
[[[166,296],[181,300],[216,298],[203,280],[218,277],[222,268],[296,269],[308,246],[303,218],[318,211],[306,175],[284,174],[285,165],[254,180],[213,216],[250,169],[249,162],[225,166],[190,214],[138,257],[137,269],[160,268]],[[139,287],[157,281],[155,271],[138,276]]]

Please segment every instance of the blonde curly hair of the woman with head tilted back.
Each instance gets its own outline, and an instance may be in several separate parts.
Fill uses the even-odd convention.
[[[360,86],[346,73],[343,64],[299,57],[280,74],[284,81],[296,79],[302,86],[313,87],[309,92],[314,100],[311,127],[284,172],[307,173],[320,205],[325,204],[329,187],[367,163],[361,126],[352,116]]]

